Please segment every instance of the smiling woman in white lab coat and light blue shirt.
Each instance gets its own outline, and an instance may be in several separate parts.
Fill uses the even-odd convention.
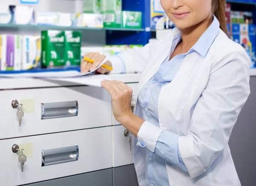
[[[228,140],[250,94],[250,58],[226,35],[225,0],[160,3],[176,28],[107,62],[116,72],[142,72],[135,114],[128,86],[102,82],[116,120],[136,137],[139,185],[240,186]],[[96,62],[83,61],[82,72],[105,58],[86,57]]]

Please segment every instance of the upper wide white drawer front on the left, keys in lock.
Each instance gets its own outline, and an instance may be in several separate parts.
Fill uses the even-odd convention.
[[[0,97],[0,139],[111,126],[111,96],[103,88],[75,86],[4,90],[0,91]],[[32,105],[29,107],[30,113],[24,113],[21,126],[19,126],[18,122],[17,109],[13,109],[11,106],[14,99],[19,103],[23,103],[22,100],[25,100],[24,108],[28,106],[26,105],[26,100],[29,100],[29,106]],[[67,101],[78,102],[77,116],[41,120],[41,103],[61,103]],[[55,108],[56,110],[58,114],[58,108]],[[56,114],[55,111],[53,111],[53,114]],[[50,114],[48,113],[48,116]]]

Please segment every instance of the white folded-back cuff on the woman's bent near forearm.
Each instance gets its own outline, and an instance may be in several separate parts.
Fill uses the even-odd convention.
[[[157,139],[162,131],[163,129],[145,121],[137,134],[137,146],[146,147],[154,153]]]

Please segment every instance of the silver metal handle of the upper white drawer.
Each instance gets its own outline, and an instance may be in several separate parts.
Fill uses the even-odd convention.
[[[78,115],[77,101],[41,103],[41,120]]]

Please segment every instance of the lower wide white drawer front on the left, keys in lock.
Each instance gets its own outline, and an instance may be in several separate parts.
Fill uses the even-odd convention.
[[[17,186],[111,168],[111,128],[110,126],[0,140],[1,185]],[[32,143],[32,157],[27,157],[23,172],[21,172],[21,166],[18,162],[18,154],[12,152],[12,145],[15,143],[18,145]],[[76,145],[79,149],[78,160],[42,166],[42,150],[47,152],[47,149]],[[59,158],[63,160],[67,154],[63,155],[56,154],[53,158],[54,161],[61,160]]]

